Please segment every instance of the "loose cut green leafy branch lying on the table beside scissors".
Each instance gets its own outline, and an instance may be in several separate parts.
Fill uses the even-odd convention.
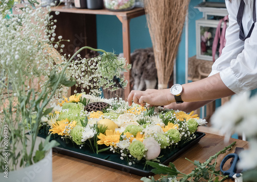
[[[221,177],[222,179],[220,181],[224,181],[228,176],[224,176],[221,174],[221,171],[216,171],[215,167],[216,167],[216,160],[217,157],[220,154],[225,153],[227,150],[230,150],[234,145],[235,145],[235,141],[233,143],[231,143],[230,145],[228,145],[227,147],[225,147],[223,150],[217,152],[215,155],[211,156],[209,159],[207,159],[205,162],[200,163],[199,161],[191,161],[189,159],[189,161],[191,161],[194,166],[196,166],[192,172],[190,174],[184,174],[181,173],[180,171],[178,171],[174,165],[174,163],[170,162],[169,166],[164,166],[160,163],[157,162],[152,162],[152,161],[146,161],[146,163],[152,167],[154,167],[155,169],[152,170],[153,173],[155,174],[160,174],[161,177],[158,180],[155,180],[154,177],[152,176],[151,178],[147,178],[147,177],[142,177],[141,180],[145,181],[145,182],[154,182],[154,181],[168,181],[169,178],[179,178],[177,180],[183,182],[183,181],[214,181],[217,182],[219,181],[219,177]],[[215,161],[213,163],[212,160]],[[165,176],[163,176],[165,175]]]

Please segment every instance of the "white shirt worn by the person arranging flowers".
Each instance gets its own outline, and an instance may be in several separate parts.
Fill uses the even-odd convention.
[[[210,76],[219,72],[224,84],[234,93],[240,94],[257,88],[257,23],[251,37],[241,41],[236,21],[240,1],[226,3],[229,12],[226,46],[221,57],[214,62]]]

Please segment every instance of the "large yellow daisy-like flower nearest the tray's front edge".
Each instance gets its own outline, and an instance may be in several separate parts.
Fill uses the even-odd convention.
[[[120,141],[120,132],[114,130],[106,130],[105,135],[100,133],[97,138],[97,144],[105,144],[106,146],[116,146],[116,143]]]

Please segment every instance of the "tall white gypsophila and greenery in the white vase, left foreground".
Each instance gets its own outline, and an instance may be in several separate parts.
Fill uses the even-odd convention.
[[[56,20],[49,14],[50,7],[35,8],[34,4],[39,3],[29,1],[29,6],[20,8],[21,13],[14,15],[9,13],[13,4],[9,2],[0,2],[0,180],[48,181],[46,177],[51,180],[51,148],[58,143],[49,141],[50,135],[37,143],[41,119],[52,111],[52,101],[63,99],[67,87],[77,82],[76,86],[84,84],[91,88],[90,78],[78,78],[86,70],[77,69],[78,61],[74,58],[82,49],[93,48],[82,47],[73,56],[61,56],[64,40],[54,33]],[[95,93],[99,93],[100,87],[115,85],[112,79],[119,78],[121,71],[130,69],[131,65],[114,53],[93,50],[103,54],[97,58],[97,70],[86,75],[98,73],[99,81],[92,86],[97,85]],[[83,60],[81,64],[88,65]],[[124,78],[121,83],[126,86]],[[39,169],[36,166],[40,162],[43,166]],[[26,169],[25,172],[20,168]],[[22,176],[12,173],[19,171]]]

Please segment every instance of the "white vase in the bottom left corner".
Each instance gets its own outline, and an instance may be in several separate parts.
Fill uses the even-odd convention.
[[[36,148],[43,138],[38,137],[36,141]],[[8,177],[8,178],[7,178]],[[10,182],[48,182],[52,181],[52,150],[46,153],[46,156],[26,168],[17,169],[15,171],[8,171],[0,173],[0,181]]]

